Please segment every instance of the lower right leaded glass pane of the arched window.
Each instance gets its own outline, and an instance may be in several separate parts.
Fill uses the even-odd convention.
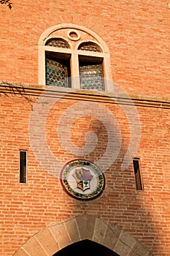
[[[84,90],[104,91],[102,64],[80,67],[80,86]]]

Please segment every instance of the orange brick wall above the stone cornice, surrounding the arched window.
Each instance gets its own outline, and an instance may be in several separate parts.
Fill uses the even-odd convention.
[[[37,83],[40,35],[58,23],[76,23],[107,43],[115,83],[132,94],[169,94],[166,1],[16,0],[10,11],[1,6],[1,20],[1,80]]]

